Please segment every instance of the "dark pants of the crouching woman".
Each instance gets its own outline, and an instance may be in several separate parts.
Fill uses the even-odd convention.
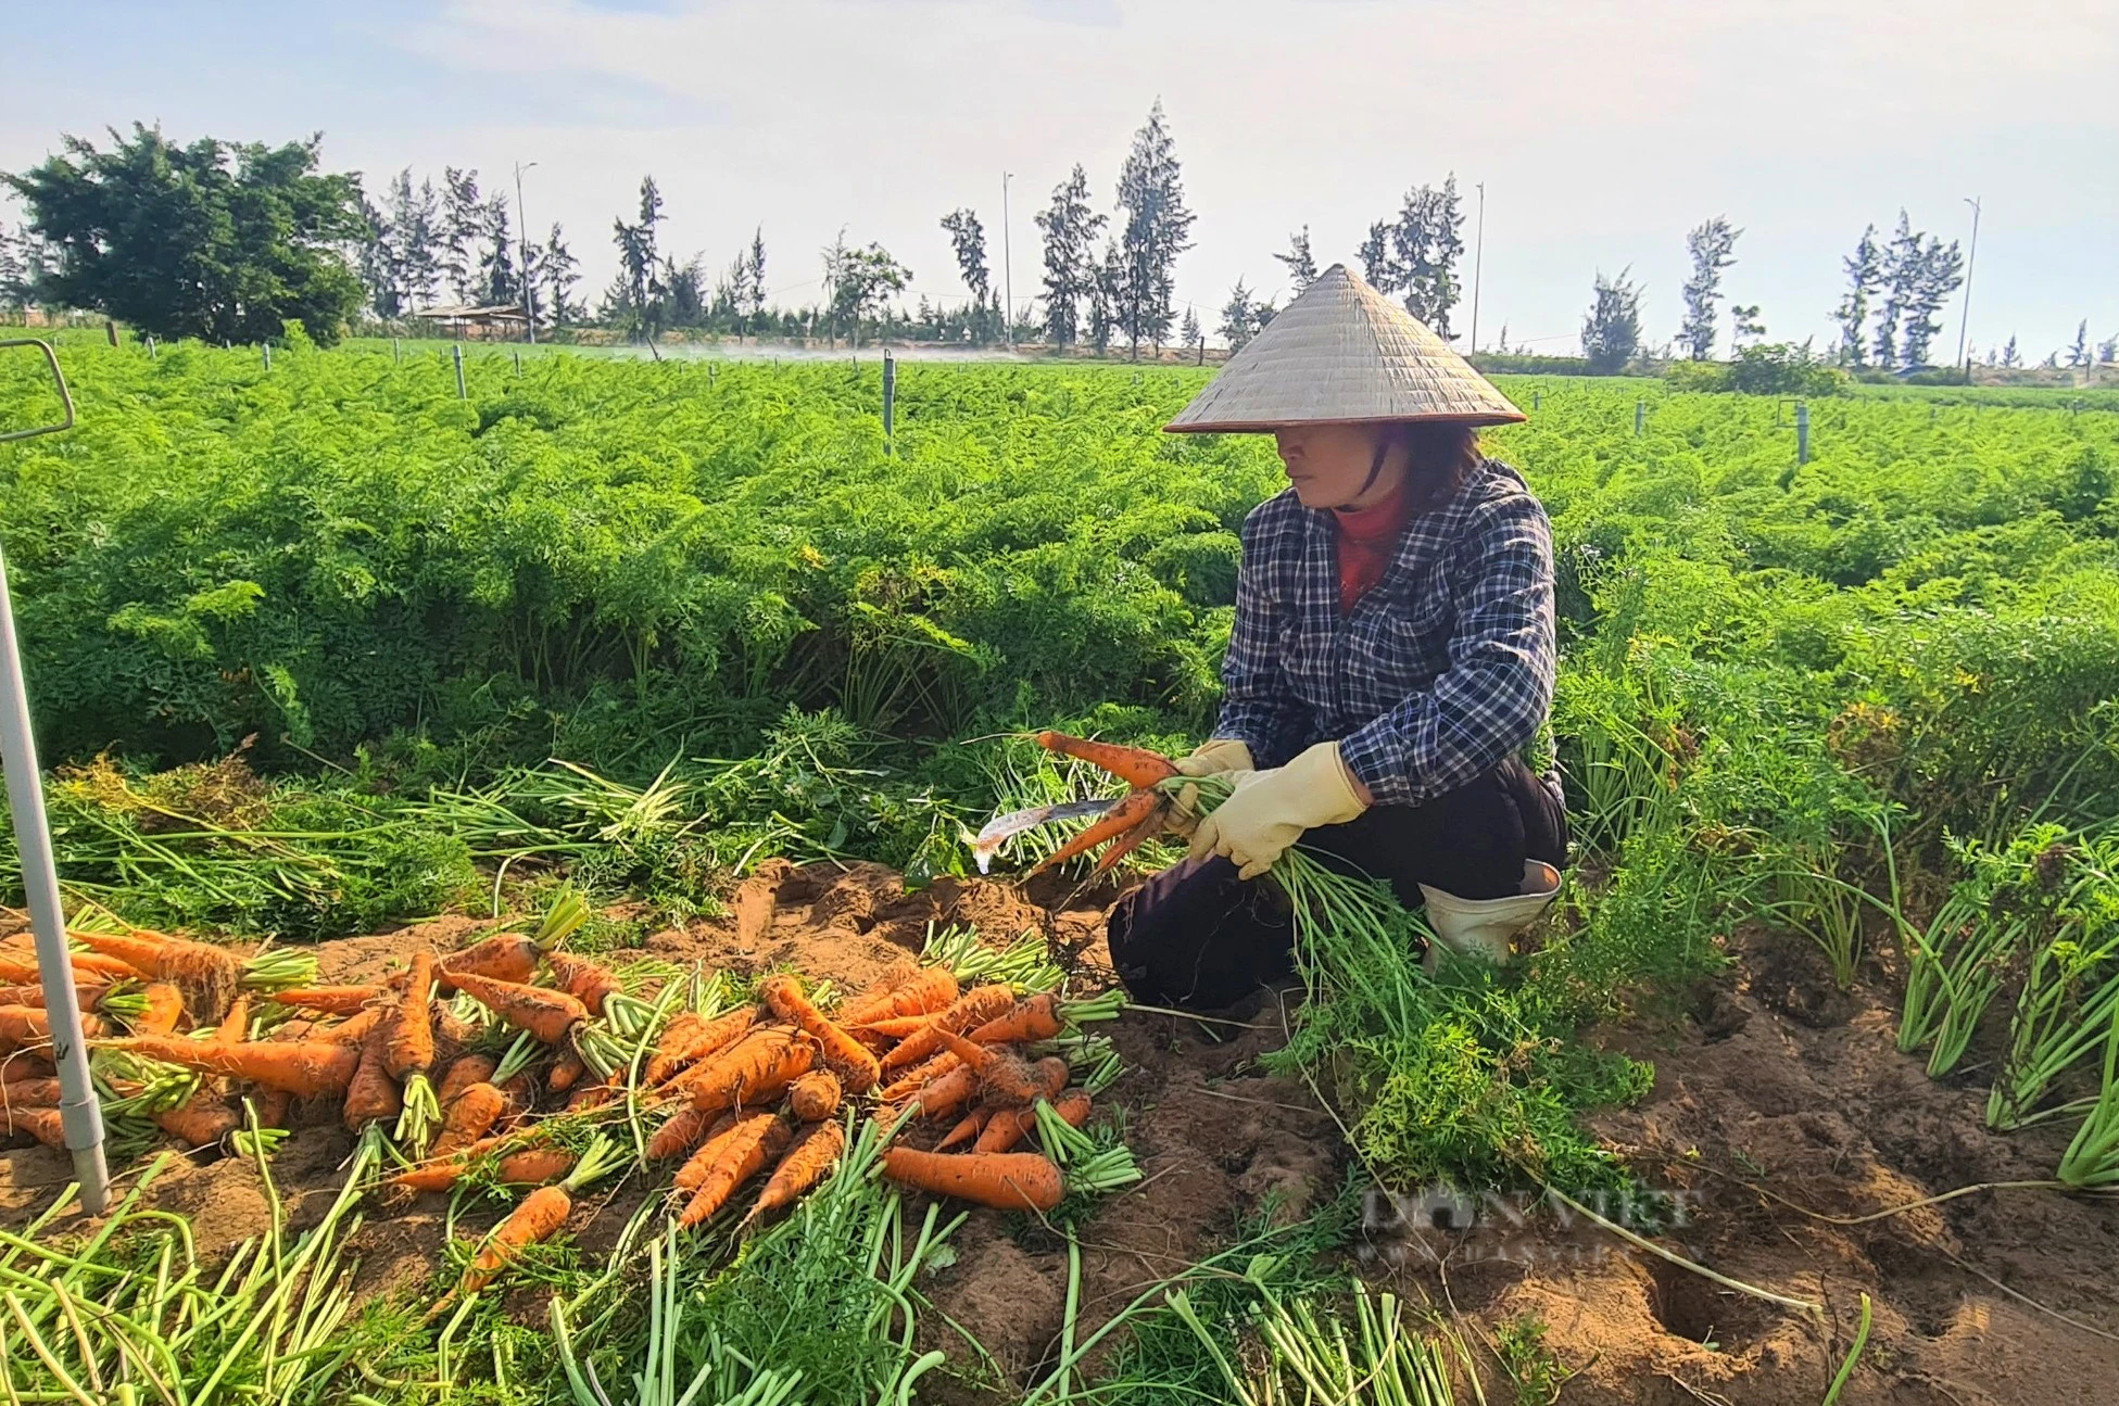
[[[1458,898],[1509,898],[1524,860],[1566,862],[1568,815],[1524,762],[1509,758],[1426,805],[1379,805],[1301,845],[1341,872],[1384,879],[1407,908],[1420,885]],[[1235,864],[1187,860],[1110,908],[1110,961],[1151,1006],[1229,1006],[1295,972],[1295,927],[1280,889],[1244,883]]]

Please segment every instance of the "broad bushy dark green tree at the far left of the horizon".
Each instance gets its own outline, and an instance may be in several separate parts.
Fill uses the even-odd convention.
[[[51,246],[38,299],[157,337],[263,341],[299,318],[331,343],[360,307],[360,182],[318,172],[318,138],[174,146],[133,123],[110,150],[64,138],[8,188]]]

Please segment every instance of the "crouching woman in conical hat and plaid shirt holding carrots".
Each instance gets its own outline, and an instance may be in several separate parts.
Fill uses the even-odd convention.
[[[1168,426],[1271,434],[1290,487],[1244,523],[1221,720],[1180,762],[1235,792],[1110,913],[1136,997],[1286,978],[1286,900],[1252,881],[1297,841],[1496,961],[1551,900],[1566,811],[1521,758],[1553,697],[1551,527],[1477,436],[1517,419],[1335,265]]]

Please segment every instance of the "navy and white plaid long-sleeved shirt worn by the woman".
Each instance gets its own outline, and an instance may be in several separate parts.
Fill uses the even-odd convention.
[[[1214,735],[1259,767],[1339,739],[1377,805],[1420,805],[1530,743],[1553,665],[1551,523],[1507,464],[1415,515],[1350,614],[1333,517],[1288,489],[1244,521]]]

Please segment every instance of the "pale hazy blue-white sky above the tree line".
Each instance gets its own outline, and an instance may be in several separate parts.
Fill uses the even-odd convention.
[[[941,216],[987,227],[1013,296],[1038,292],[1032,222],[1068,169],[1100,210],[1161,100],[1197,216],[1178,296],[1214,326],[1242,277],[1310,227],[1346,260],[1409,186],[1466,195],[1456,330],[1572,352],[1591,280],[1630,269],[1644,335],[1674,337],[1685,233],[1744,233],[1725,288],[1767,337],[1835,339],[1839,260],[1865,224],[1971,241],[1969,339],[2026,360],[2119,335],[2115,0],[362,0],[11,4],[0,169],[59,133],[161,123],[172,140],[324,136],[379,191],[400,167],[523,174],[591,296],[642,174],[663,248],[725,267],[763,227],[767,288],[818,292],[843,227],[962,299]],[[1483,241],[1479,195],[1483,182]],[[19,212],[0,208],[13,220]],[[1964,296],[1945,311],[1956,352]],[[1727,328],[1727,316],[1723,326]],[[1460,341],[1458,345],[1464,345]],[[1727,345],[1727,341],[1723,343]]]

